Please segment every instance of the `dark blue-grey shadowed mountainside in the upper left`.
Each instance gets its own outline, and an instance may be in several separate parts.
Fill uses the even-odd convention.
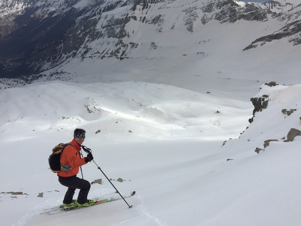
[[[30,1],[22,13],[15,16],[9,15],[9,18],[0,20],[0,63],[4,65],[2,77],[16,77],[23,74],[32,74],[39,72],[40,67],[36,65],[37,61],[57,61],[60,52],[60,46],[68,40],[67,35],[70,31],[77,30],[76,27],[82,26],[92,17],[100,15],[101,12],[113,10],[119,7],[123,2],[116,1],[113,4],[103,5],[106,1],[89,1],[89,4],[75,8],[76,1],[61,1],[61,5],[55,6],[55,9],[49,2],[42,1],[43,5],[35,6],[36,1]],[[4,6],[3,6],[4,7]],[[13,7],[7,5],[6,7]],[[95,24],[90,23],[93,27]],[[90,27],[86,29],[90,29]],[[73,48],[79,46],[73,44]],[[69,46],[69,52],[71,52]],[[72,49],[73,50],[73,49]],[[66,48],[64,49],[66,51]],[[60,52],[60,53],[59,53]],[[50,59],[51,58],[51,59]]]

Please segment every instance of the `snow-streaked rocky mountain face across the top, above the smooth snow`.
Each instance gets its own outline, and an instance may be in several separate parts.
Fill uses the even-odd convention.
[[[2,0],[0,78],[39,74],[74,58],[100,64],[105,58],[135,59],[137,51],[158,48],[156,40],[144,41],[147,30],[194,35],[199,21],[213,20],[279,24],[241,51],[284,37],[292,46],[301,44],[301,4],[289,0]]]

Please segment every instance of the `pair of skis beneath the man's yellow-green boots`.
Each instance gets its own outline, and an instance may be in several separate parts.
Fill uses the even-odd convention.
[[[115,193],[116,192],[114,192],[112,194],[115,194]],[[135,195],[135,193],[136,192],[133,191],[131,193],[125,194],[125,195],[123,195],[123,198],[125,198],[125,199],[129,198],[129,197]],[[92,205],[92,206],[102,204],[102,203],[106,203],[106,202],[112,202],[112,201],[119,200],[119,199],[122,199],[122,197],[121,196],[116,196],[116,197],[112,197],[112,198],[96,200],[94,205]],[[89,207],[89,206],[81,206],[81,207],[79,207],[79,206],[70,206],[70,207],[59,206],[59,207],[54,207],[54,208],[48,209],[49,211],[42,212],[41,214],[47,213],[48,215],[52,215],[52,214],[62,213],[62,212],[70,211],[70,210],[82,209],[82,208],[86,208],[86,207]]]

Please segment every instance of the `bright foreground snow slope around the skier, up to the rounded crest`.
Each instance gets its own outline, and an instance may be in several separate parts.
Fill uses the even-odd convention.
[[[301,130],[301,85],[260,88],[247,94],[269,95],[268,108],[251,124],[250,101],[160,83],[52,81],[0,90],[2,225],[299,225],[301,136],[281,138]],[[75,128],[87,131],[84,145],[119,192],[136,191],[126,199],[131,209],[118,200],[40,214],[62,203],[66,187],[47,159]],[[279,142],[263,148],[268,139]],[[82,170],[86,180],[103,181],[89,199],[115,191],[93,162]]]

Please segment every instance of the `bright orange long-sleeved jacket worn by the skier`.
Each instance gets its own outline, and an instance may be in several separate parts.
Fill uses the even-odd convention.
[[[85,162],[85,158],[81,157],[81,147],[78,145],[78,143],[76,143],[76,141],[73,139],[69,144],[72,144],[74,147],[76,147],[76,149],[72,145],[67,145],[61,155],[61,164],[71,166],[73,169],[69,171],[58,172],[57,175],[61,177],[74,176],[78,174],[80,166],[87,164]]]

